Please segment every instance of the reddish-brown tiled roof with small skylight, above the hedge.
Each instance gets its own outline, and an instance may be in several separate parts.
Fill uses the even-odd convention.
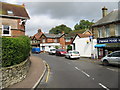
[[[15,5],[0,2],[0,15],[1,16],[11,16],[11,17],[19,17],[19,18],[26,18],[29,19],[29,15],[23,5]],[[13,15],[9,15],[8,11],[12,12]]]

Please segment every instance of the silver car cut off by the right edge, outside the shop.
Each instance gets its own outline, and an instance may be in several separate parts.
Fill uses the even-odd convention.
[[[101,59],[103,65],[120,64],[120,51],[114,51]]]

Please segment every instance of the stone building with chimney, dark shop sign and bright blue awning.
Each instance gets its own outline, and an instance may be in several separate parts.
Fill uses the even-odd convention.
[[[98,58],[109,52],[120,50],[120,10],[113,10],[107,14],[107,8],[102,8],[103,17],[92,26],[94,38],[97,39],[95,47]]]

